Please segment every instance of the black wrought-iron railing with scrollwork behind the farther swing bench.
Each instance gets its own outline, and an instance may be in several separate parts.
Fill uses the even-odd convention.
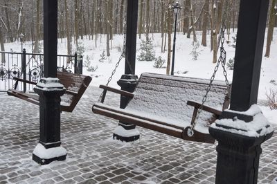
[[[0,51],[0,92],[12,88],[15,81],[13,77],[20,77],[24,80],[38,82],[43,77],[43,54],[1,52]],[[82,56],[57,55],[57,71],[82,74]],[[19,85],[19,90],[33,90],[33,85],[26,83]]]

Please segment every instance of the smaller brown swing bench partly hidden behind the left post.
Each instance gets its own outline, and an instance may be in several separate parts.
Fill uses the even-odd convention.
[[[72,112],[84,94],[84,91],[89,86],[91,77],[74,73],[57,72],[57,78],[59,78],[60,83],[66,88],[64,95],[61,97],[61,110]],[[35,93],[24,93],[17,90],[18,82],[26,82],[33,85],[36,85],[36,82],[30,82],[17,77],[14,77],[13,79],[16,81],[15,86],[14,89],[9,89],[7,91],[8,95],[15,96],[33,104],[39,104],[39,95],[36,95]]]

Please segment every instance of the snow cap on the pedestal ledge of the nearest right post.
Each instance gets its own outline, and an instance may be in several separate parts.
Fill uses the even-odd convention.
[[[237,116],[233,118],[223,118],[216,120],[215,123],[211,125],[211,128],[256,138],[271,134],[274,131],[257,104],[253,104],[247,111],[226,111],[242,116],[252,116],[253,120],[245,122],[244,120],[238,119]]]

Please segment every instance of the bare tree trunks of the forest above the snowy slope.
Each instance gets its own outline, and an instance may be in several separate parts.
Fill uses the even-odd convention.
[[[139,0],[138,36],[145,34],[152,39],[152,33],[161,33],[161,52],[168,51],[171,57],[172,33],[174,31],[174,0]],[[240,0],[179,0],[181,12],[177,19],[177,32],[193,37],[194,42],[207,46],[211,40],[213,62],[217,61],[222,23],[226,26],[225,39],[230,42],[231,31],[235,32],[238,21]],[[1,0],[0,1],[0,43],[19,41],[23,33],[24,42],[31,41],[33,53],[39,53],[39,40],[43,39],[42,0]],[[97,47],[98,42],[107,42],[107,56],[114,34],[125,33],[127,0],[59,0],[58,37],[69,38],[67,53],[72,53],[72,44],[78,47],[84,37],[89,37]],[[267,49],[270,46],[274,27],[277,25],[277,0],[269,1],[267,19]],[[197,40],[196,31],[202,33]],[[233,38],[235,39],[235,38]]]

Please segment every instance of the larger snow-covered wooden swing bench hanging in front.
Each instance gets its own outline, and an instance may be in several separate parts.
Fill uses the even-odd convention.
[[[104,93],[112,91],[129,97],[125,109],[103,104],[103,95],[100,102],[93,104],[92,111],[184,140],[213,143],[215,139],[208,134],[208,127],[220,116],[223,109],[229,107],[226,84],[222,81],[213,82],[195,127],[195,134],[189,137],[186,132],[196,116],[201,105],[198,102],[202,102],[209,82],[190,77],[143,73],[134,93],[100,86]]]

